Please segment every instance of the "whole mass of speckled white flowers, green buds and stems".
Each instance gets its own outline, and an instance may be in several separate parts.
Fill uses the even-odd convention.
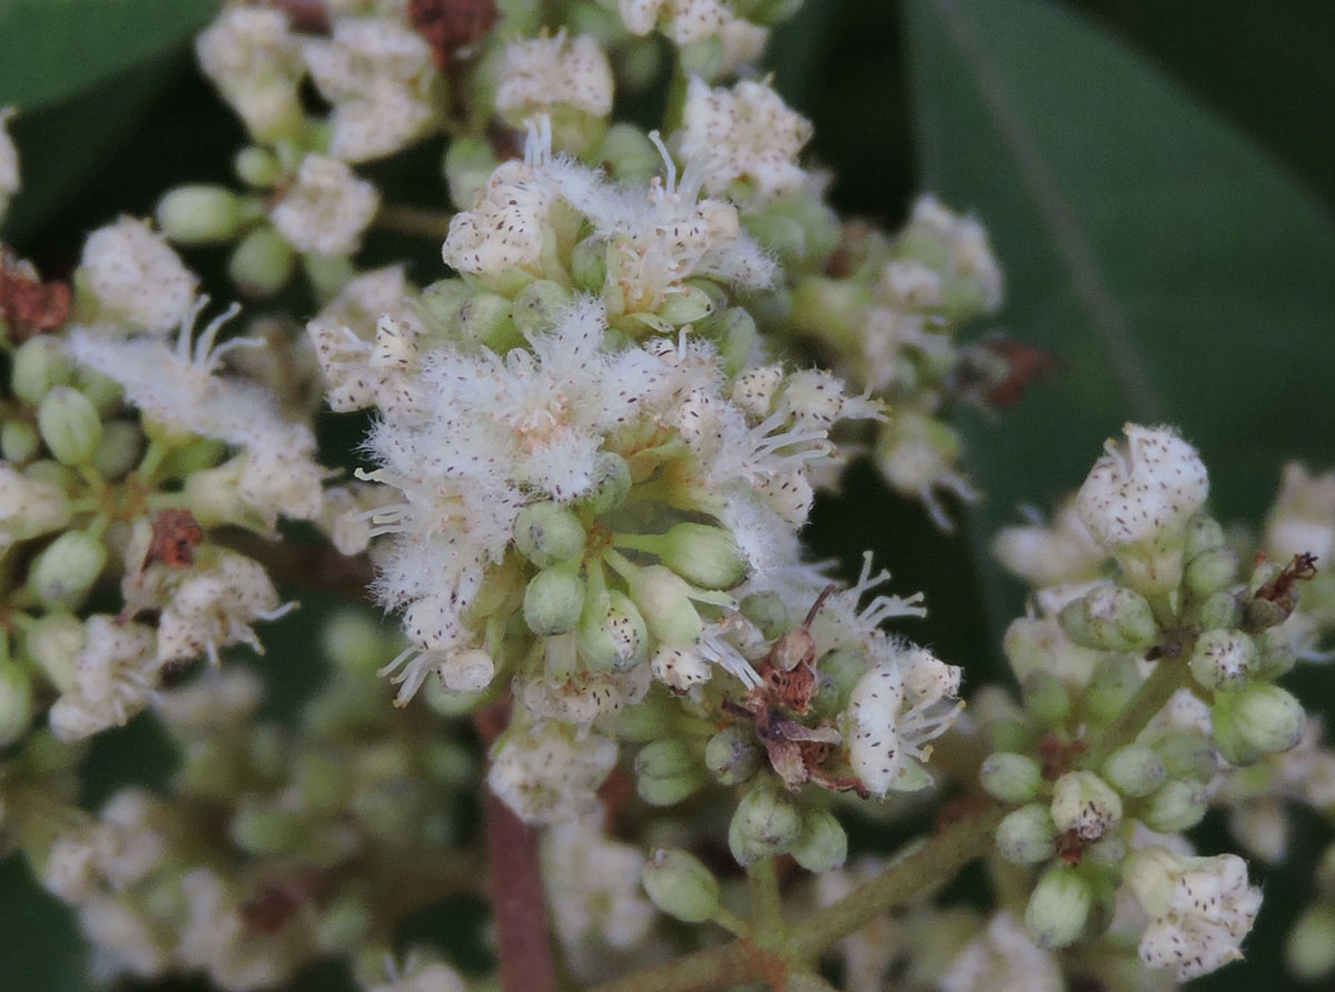
[[[60,913],[84,985],[1143,989],[1251,953],[1258,869],[1335,810],[1335,477],[1220,517],[1193,438],[1231,407],[1156,413],[1199,386],[1140,367],[972,4],[906,23],[972,53],[1096,334],[1003,310],[1041,251],[987,211],[841,214],[765,73],[800,5],[224,0],[187,25],[222,166],[65,262],[0,250],[0,904]],[[1007,447],[1044,377],[1101,454]],[[983,502],[1069,463],[1048,515]],[[963,567],[914,573],[961,522],[1027,589],[995,637]]]

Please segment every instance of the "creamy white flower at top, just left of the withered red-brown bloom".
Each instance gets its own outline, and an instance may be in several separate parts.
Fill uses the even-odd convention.
[[[334,104],[328,154],[344,162],[390,155],[435,120],[431,48],[383,17],[340,17],[332,40],[303,45],[320,93]]]

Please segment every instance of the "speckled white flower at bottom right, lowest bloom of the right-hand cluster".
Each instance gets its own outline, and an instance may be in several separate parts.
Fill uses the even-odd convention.
[[[1184,857],[1152,846],[1128,858],[1124,879],[1151,919],[1140,937],[1140,960],[1149,968],[1171,968],[1177,981],[1189,981],[1243,956],[1260,889],[1247,884],[1240,857]]]

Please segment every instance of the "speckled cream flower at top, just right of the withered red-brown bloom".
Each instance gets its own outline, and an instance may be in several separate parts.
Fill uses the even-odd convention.
[[[501,59],[497,109],[527,116],[565,103],[594,117],[611,112],[611,67],[597,39],[553,37],[511,41]]]

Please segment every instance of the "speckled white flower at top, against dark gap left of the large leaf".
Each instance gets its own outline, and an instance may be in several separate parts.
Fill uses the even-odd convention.
[[[693,76],[686,89],[681,154],[705,163],[710,195],[736,179],[754,187],[758,203],[797,192],[806,174],[796,159],[810,136],[810,121],[764,83],[744,80],[732,89],[710,89]]]

